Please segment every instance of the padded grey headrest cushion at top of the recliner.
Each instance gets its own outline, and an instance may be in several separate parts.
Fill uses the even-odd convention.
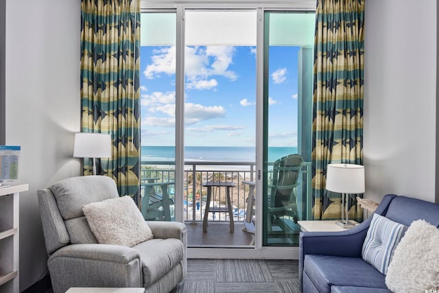
[[[82,217],[85,204],[119,197],[115,180],[107,176],[71,177],[55,183],[49,189],[64,220]]]

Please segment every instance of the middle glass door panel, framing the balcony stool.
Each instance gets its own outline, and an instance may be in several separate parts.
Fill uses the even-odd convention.
[[[242,230],[253,211],[256,25],[256,10],[185,11],[185,220],[205,226],[192,247],[253,245],[254,228]]]

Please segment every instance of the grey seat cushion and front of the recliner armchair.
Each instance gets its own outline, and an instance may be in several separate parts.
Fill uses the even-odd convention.
[[[184,246],[176,238],[151,239],[136,246],[142,260],[143,286],[145,288],[161,279],[171,268],[182,261]]]

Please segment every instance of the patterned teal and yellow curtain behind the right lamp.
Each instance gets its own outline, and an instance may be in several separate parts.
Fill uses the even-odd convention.
[[[363,163],[365,0],[318,0],[314,45],[313,218],[339,219],[341,195],[325,189],[329,163]],[[355,197],[349,218],[362,220]]]

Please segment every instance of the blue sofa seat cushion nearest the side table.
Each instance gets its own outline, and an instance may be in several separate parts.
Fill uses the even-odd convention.
[[[318,292],[331,292],[331,285],[387,289],[385,276],[361,257],[305,255],[303,267]]]

